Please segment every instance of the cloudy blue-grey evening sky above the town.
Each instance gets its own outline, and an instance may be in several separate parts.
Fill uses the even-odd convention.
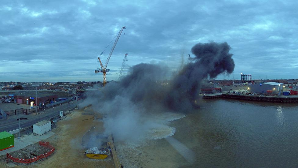
[[[234,79],[296,79],[297,7],[290,0],[2,0],[0,81],[102,81],[97,57],[123,26],[107,80],[118,80],[125,53],[124,74],[141,62],[175,72],[194,44],[210,41],[230,45]]]

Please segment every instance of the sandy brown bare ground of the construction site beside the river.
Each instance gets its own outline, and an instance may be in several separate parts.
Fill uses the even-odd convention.
[[[16,163],[9,160],[6,162],[6,155],[0,156],[0,167],[114,167],[111,156],[107,159],[89,159],[84,155],[85,147],[82,144],[82,137],[92,127],[98,133],[104,131],[100,119],[93,120],[93,115],[82,115],[83,110],[74,110],[66,118],[56,123],[52,129],[54,133],[47,141],[55,147],[55,151],[49,157],[38,160],[31,164]],[[97,115],[98,116],[98,115]],[[101,118],[101,116],[98,116]],[[48,149],[39,146],[38,143],[30,144],[27,147],[11,152],[14,157],[26,159],[46,152]]]

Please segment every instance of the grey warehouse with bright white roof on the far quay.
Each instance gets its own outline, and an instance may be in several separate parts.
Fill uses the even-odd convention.
[[[277,82],[255,83],[248,85],[248,90],[254,93],[279,93],[282,92],[284,84]]]

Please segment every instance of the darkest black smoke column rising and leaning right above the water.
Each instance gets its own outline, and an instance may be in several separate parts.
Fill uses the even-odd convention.
[[[235,67],[230,54],[231,47],[225,43],[198,43],[191,48],[195,55],[177,74],[166,97],[166,105],[172,110],[191,110],[198,99],[204,79],[215,78],[221,73],[232,73]]]

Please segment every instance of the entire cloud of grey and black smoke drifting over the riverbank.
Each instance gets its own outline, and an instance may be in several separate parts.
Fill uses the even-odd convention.
[[[191,62],[173,76],[168,85],[158,83],[169,72],[163,65],[140,63],[119,83],[109,83],[100,91],[90,93],[82,106],[104,114],[105,133],[118,141],[158,139],[161,134],[173,135],[165,118],[176,120],[198,107],[200,86],[204,79],[221,73],[232,73],[234,61],[227,43],[198,43],[191,48]],[[168,131],[165,131],[168,130]],[[160,135],[161,138],[167,136]]]

